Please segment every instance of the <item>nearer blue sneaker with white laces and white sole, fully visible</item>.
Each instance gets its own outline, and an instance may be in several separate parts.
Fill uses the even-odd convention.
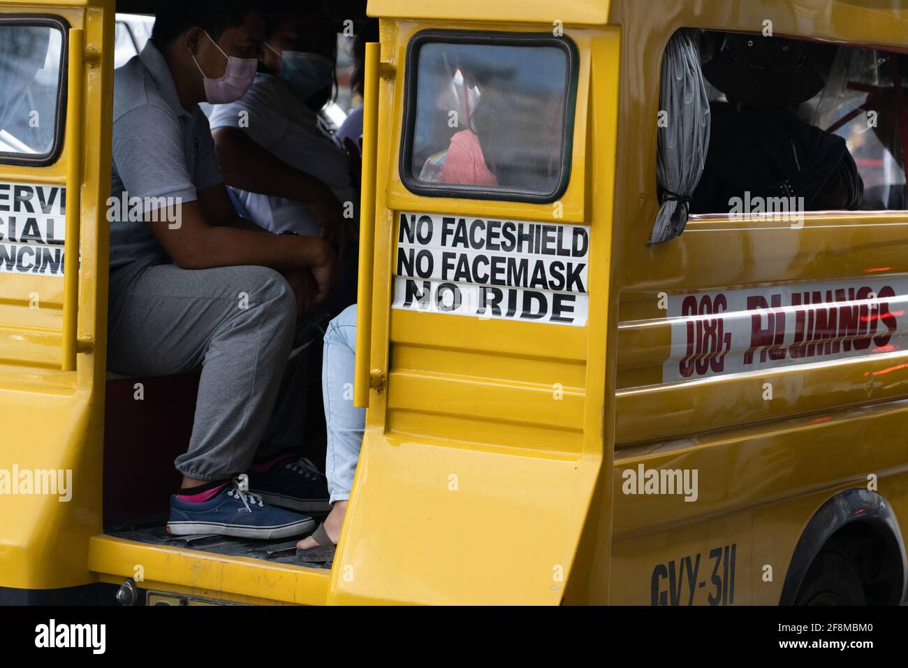
[[[311,531],[315,521],[309,515],[275,508],[241,489],[239,480],[202,503],[171,496],[167,533],[184,536],[213,533],[240,538],[287,538]]]

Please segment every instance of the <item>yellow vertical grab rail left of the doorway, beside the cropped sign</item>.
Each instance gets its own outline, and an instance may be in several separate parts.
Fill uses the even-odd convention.
[[[63,370],[75,371],[79,325],[79,238],[82,233],[84,30],[69,31],[66,93],[66,238],[64,240]]]

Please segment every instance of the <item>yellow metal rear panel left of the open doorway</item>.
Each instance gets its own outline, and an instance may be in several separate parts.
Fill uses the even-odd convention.
[[[79,339],[96,342],[63,365],[64,279],[3,274],[0,280],[0,403],[11,419],[0,448],[0,468],[72,472],[72,500],[56,496],[0,496],[0,586],[54,589],[89,583],[88,539],[102,527],[104,330],[107,320],[108,238],[105,201],[110,190],[113,115],[113,0],[0,3],[10,14],[64,18],[84,31],[81,116],[81,218],[78,272]],[[76,139],[78,139],[76,137]],[[42,168],[0,165],[0,182],[67,184],[74,150]],[[68,185],[68,184],[67,184]],[[74,271],[71,260],[67,274]],[[78,265],[76,265],[78,266]],[[35,302],[35,294],[37,302]],[[35,307],[35,305],[37,307]]]

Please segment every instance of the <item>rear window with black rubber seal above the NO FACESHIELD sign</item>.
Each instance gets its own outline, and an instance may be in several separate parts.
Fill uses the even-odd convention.
[[[410,41],[400,174],[417,194],[550,202],[568,184],[577,51],[551,35]]]

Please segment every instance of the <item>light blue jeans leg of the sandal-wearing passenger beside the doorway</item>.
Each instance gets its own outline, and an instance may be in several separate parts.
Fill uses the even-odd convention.
[[[325,475],[330,503],[350,499],[366,427],[366,409],[353,407],[355,359],[356,304],[353,304],[328,325],[321,362],[321,395],[328,426]]]

